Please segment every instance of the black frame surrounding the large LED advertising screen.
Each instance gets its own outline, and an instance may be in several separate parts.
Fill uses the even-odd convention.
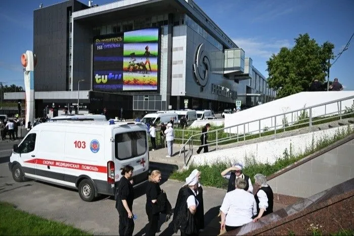
[[[105,34],[105,35],[98,35],[98,36],[95,36],[92,38],[92,46],[91,46],[91,55],[92,55],[92,58],[91,58],[91,90],[92,91],[96,91],[96,92],[107,92],[107,93],[131,93],[131,92],[134,92],[135,94],[138,94],[140,93],[141,95],[143,95],[144,93],[147,93],[147,94],[154,94],[154,93],[158,93],[160,94],[160,81],[161,81],[161,78],[160,78],[160,75],[161,75],[161,32],[162,32],[162,29],[161,27],[163,26],[158,26],[158,27],[147,27],[147,28],[141,28],[141,29],[135,29],[135,30],[129,30],[129,31],[124,31],[124,32],[119,32],[119,33],[111,33],[111,34]],[[124,33],[125,32],[132,32],[132,31],[136,31],[136,30],[144,30],[144,29],[157,29],[158,30],[158,39],[157,39],[157,53],[158,53],[158,56],[157,56],[157,88],[156,89],[136,89],[136,90],[99,90],[99,89],[94,89],[94,60],[95,60],[95,54],[94,54],[94,47],[95,47],[95,40],[96,39],[102,39],[102,38],[107,38],[107,37],[114,37],[114,36],[118,36],[120,34],[123,34],[124,36]],[[124,72],[123,72],[124,73]]]

